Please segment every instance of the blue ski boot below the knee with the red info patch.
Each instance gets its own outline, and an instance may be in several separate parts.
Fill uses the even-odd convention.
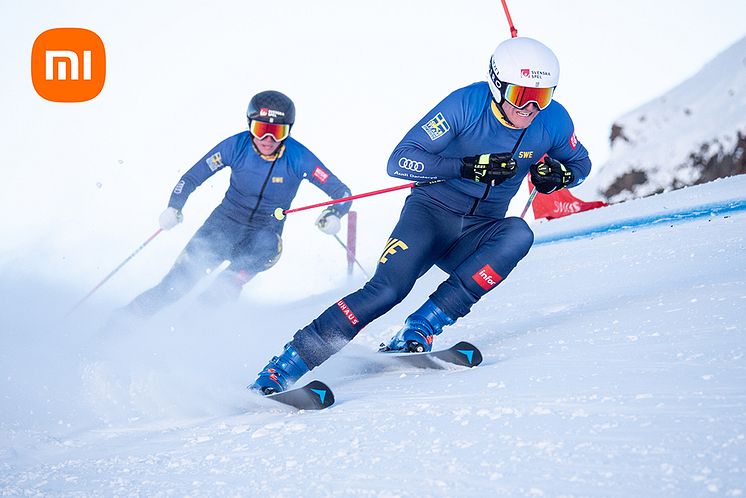
[[[380,351],[422,353],[433,348],[433,337],[443,332],[443,327],[455,320],[438,308],[432,300],[425,301],[420,309],[404,321],[404,327],[389,341],[381,344]]]

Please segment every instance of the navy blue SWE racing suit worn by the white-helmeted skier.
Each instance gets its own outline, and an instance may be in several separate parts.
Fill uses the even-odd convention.
[[[461,178],[462,158],[500,152],[512,152],[514,177],[494,187]],[[466,315],[533,244],[528,224],[505,214],[529,167],[544,154],[572,170],[570,186],[590,172],[588,152],[558,102],[539,112],[528,128],[515,129],[499,112],[487,83],[480,82],[456,90],[428,112],[394,149],[388,173],[444,181],[412,189],[371,280],[296,332],[290,345],[306,365],[318,366],[401,302],[433,265],[449,277],[430,299],[453,320]]]

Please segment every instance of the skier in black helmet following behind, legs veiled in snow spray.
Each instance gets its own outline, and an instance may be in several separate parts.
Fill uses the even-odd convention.
[[[273,216],[276,208],[288,209],[302,180],[306,179],[333,199],[350,190],[319,159],[290,136],[295,105],[284,94],[265,91],[255,95],[247,111],[249,130],[229,137],[176,184],[168,208],[159,218],[169,230],[182,220],[181,209],[189,195],[225,167],[231,168],[230,186],[223,201],[197,230],[166,276],[137,296],[124,311],[148,316],[189,292],[207,271],[229,260],[230,265],[202,296],[215,304],[236,299],[254,275],[268,270],[282,252],[284,221]],[[316,220],[319,229],[336,234],[350,202],[325,209]]]

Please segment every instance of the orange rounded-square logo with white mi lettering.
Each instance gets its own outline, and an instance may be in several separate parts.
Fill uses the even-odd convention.
[[[96,97],[106,79],[106,50],[87,29],[56,28],[40,34],[31,49],[31,81],[52,102],[85,102]]]

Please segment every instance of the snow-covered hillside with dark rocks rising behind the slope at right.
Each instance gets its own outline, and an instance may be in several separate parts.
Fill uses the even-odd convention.
[[[665,68],[662,68],[665,70]],[[692,155],[703,161],[732,154],[739,133],[746,136],[746,37],[705,64],[694,76],[615,121],[623,137],[611,146],[584,190],[605,191],[625,173],[644,171],[648,178],[633,192],[612,200],[692,185],[701,172]]]

